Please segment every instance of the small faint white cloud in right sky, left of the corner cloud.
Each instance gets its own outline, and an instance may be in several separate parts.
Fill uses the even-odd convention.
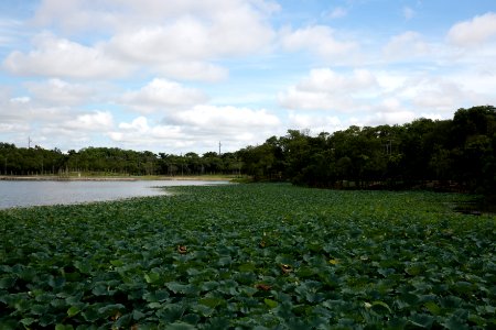
[[[421,34],[407,31],[392,36],[382,52],[389,59],[409,59],[430,54],[430,47]]]

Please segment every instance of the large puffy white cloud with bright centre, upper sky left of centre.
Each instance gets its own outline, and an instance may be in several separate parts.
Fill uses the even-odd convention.
[[[268,46],[269,26],[242,11],[217,13],[212,21],[184,15],[161,25],[116,34],[109,52],[130,61],[169,63],[250,54]]]

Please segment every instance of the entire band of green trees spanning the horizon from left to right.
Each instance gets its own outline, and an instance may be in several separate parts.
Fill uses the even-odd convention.
[[[459,109],[453,119],[418,119],[402,125],[355,127],[312,136],[289,130],[234,153],[204,155],[17,147],[0,143],[3,175],[71,172],[121,175],[247,174],[323,188],[412,188],[495,194],[496,110]]]

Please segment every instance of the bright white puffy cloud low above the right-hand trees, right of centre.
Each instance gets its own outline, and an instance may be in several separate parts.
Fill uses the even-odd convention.
[[[377,88],[375,76],[365,69],[355,69],[349,76],[328,68],[312,69],[309,77],[279,95],[281,106],[289,109],[364,110],[359,99]]]

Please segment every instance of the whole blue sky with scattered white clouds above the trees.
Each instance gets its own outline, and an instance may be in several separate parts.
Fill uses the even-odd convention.
[[[0,0],[0,142],[203,154],[496,105],[494,0]]]

